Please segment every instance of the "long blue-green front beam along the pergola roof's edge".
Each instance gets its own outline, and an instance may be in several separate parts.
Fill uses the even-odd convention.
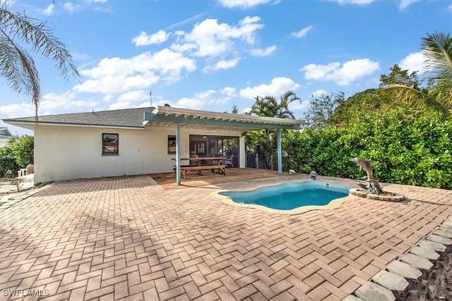
[[[199,125],[221,125],[221,126],[233,126],[238,128],[254,128],[254,129],[261,129],[261,128],[282,128],[282,129],[292,129],[292,130],[299,130],[301,129],[301,125],[294,124],[294,125],[288,125],[288,124],[275,124],[275,123],[263,123],[261,122],[254,122],[254,121],[225,121],[225,120],[215,120],[215,119],[208,119],[208,118],[196,118],[191,116],[174,116],[174,115],[168,115],[165,116],[163,114],[155,114],[155,113],[149,113],[145,112],[144,114],[145,121],[160,121],[160,122],[170,122],[170,123],[192,123],[192,124],[199,124]]]

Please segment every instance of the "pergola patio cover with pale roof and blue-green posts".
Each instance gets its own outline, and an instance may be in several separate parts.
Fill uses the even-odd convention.
[[[269,118],[261,116],[238,115],[231,113],[218,113],[179,109],[171,106],[157,106],[153,112],[144,113],[144,125],[174,125],[176,128],[176,183],[181,184],[181,148],[180,128],[204,128],[208,130],[230,129],[262,130],[275,128],[278,138],[278,173],[283,173],[283,156],[281,152],[281,130],[300,130],[305,121],[283,118]]]

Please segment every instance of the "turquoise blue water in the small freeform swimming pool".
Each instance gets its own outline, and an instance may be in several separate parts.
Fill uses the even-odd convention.
[[[291,210],[302,206],[326,205],[333,199],[346,197],[351,187],[307,181],[285,183],[276,186],[258,188],[247,192],[220,192],[240,204],[257,204],[272,209]]]

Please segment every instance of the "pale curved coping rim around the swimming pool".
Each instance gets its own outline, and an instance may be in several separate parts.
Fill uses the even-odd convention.
[[[328,177],[329,178],[329,177]],[[284,215],[292,215],[292,214],[302,214],[305,213],[307,211],[311,211],[311,210],[331,210],[331,209],[338,209],[340,207],[342,207],[342,205],[345,202],[349,202],[355,199],[359,199],[359,197],[355,196],[355,195],[347,195],[345,197],[339,197],[338,199],[333,199],[331,200],[331,202],[329,202],[326,205],[309,205],[309,206],[303,206],[303,207],[297,207],[295,209],[290,209],[290,210],[283,210],[283,209],[272,209],[272,208],[268,208],[262,205],[258,205],[258,204],[243,204],[243,203],[237,203],[234,202],[230,197],[227,197],[226,195],[220,195],[220,192],[235,192],[235,191],[243,191],[243,192],[248,192],[248,191],[253,191],[253,190],[257,190],[259,188],[263,188],[263,187],[270,187],[270,186],[278,186],[278,185],[282,185],[285,183],[304,183],[304,182],[308,182],[311,181],[309,179],[301,179],[301,180],[290,180],[290,181],[278,181],[280,183],[274,183],[273,185],[262,185],[259,183],[256,183],[256,187],[252,187],[252,188],[242,188],[240,190],[226,190],[226,189],[220,189],[214,192],[210,192],[210,195],[216,195],[218,197],[220,197],[220,200],[225,203],[225,204],[229,204],[235,207],[243,207],[243,208],[251,208],[251,209],[258,209],[260,211],[264,211],[270,214],[284,214]],[[326,179],[326,178],[322,178],[319,179],[319,181],[321,182],[325,182],[325,183],[335,183],[338,185],[344,185],[342,183],[336,183],[334,179]]]

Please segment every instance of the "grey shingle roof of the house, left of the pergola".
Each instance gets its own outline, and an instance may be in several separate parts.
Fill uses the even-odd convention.
[[[143,128],[144,112],[152,112],[155,108],[134,108],[112,111],[92,111],[87,113],[68,113],[39,116],[38,123],[61,125],[96,125],[124,128]],[[35,117],[4,119],[6,123],[35,123]]]

